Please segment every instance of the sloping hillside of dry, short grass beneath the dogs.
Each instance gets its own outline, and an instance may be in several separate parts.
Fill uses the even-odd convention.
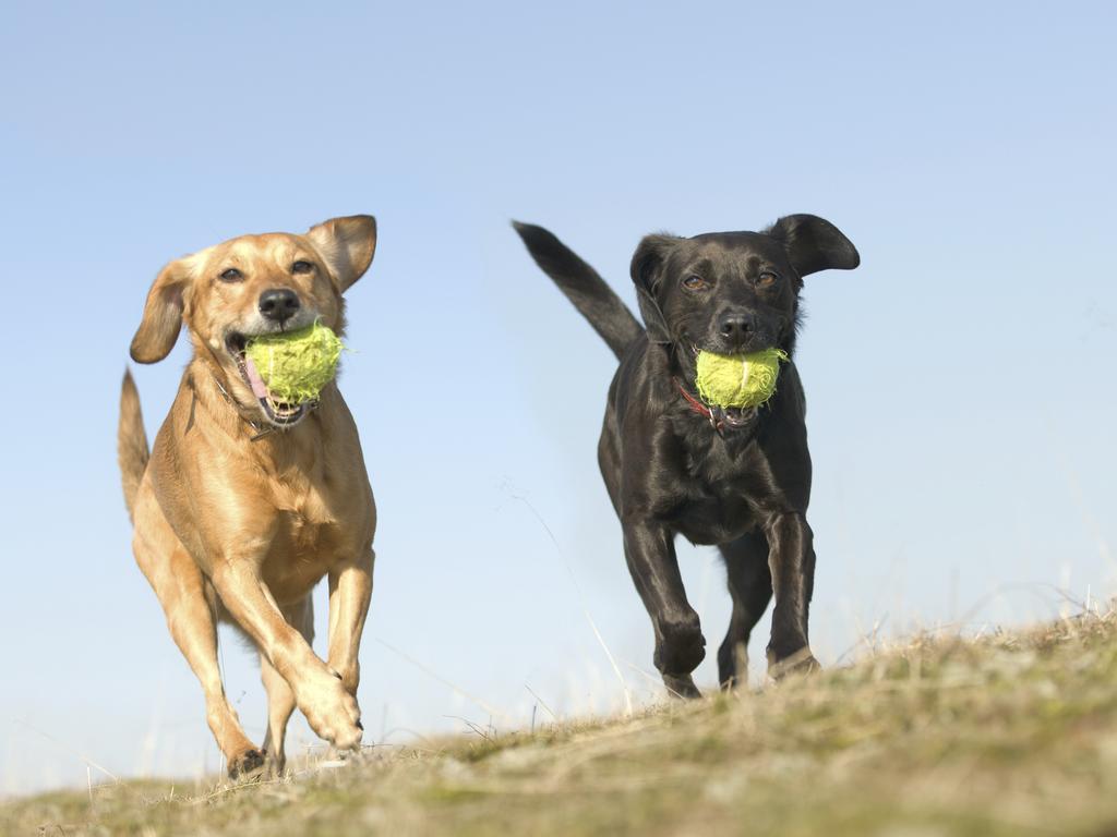
[[[1117,614],[919,637],[633,719],[372,748],[295,780],[0,806],[28,835],[1117,835]]]

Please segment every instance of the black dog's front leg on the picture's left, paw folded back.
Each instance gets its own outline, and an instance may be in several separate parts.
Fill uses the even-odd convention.
[[[656,629],[655,663],[680,698],[698,698],[690,673],[706,656],[698,614],[687,602],[675,557],[675,533],[646,519],[624,522],[624,558]]]

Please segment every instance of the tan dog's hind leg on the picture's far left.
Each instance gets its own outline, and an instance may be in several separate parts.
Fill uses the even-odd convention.
[[[140,569],[163,605],[171,636],[202,684],[206,720],[226,758],[229,777],[236,779],[259,769],[264,754],[241,729],[221,683],[217,618],[213,603],[206,595],[201,570],[169,528],[144,535],[137,532],[133,546]]]

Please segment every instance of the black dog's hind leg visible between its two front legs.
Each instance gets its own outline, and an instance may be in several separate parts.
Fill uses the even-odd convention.
[[[718,548],[725,559],[733,616],[717,650],[717,672],[722,687],[733,689],[748,680],[748,637],[772,600],[772,569],[763,532],[750,532]]]

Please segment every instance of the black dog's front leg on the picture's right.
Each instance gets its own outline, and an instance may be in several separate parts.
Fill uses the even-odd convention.
[[[814,535],[802,513],[774,514],[765,528],[772,568],[775,609],[767,646],[768,674],[819,667],[806,638],[806,620],[814,589]]]

